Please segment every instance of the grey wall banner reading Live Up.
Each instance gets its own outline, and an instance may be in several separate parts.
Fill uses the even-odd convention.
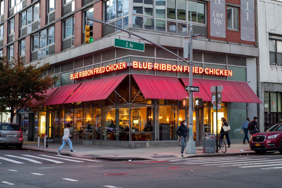
[[[225,38],[225,0],[210,1],[211,36]]]

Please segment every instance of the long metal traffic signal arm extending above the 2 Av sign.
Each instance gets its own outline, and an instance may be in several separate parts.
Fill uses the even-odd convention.
[[[170,54],[174,55],[175,57],[177,57],[177,58],[181,59],[182,61],[184,61],[185,63],[189,64],[189,62],[187,62],[184,58],[178,56],[177,54],[173,53],[172,51],[166,49],[166,48],[163,47],[163,46],[158,45],[157,43],[155,43],[155,42],[153,42],[153,41],[151,41],[151,40],[149,40],[149,39],[146,39],[146,38],[144,38],[144,37],[142,37],[142,36],[140,36],[140,35],[137,35],[137,34],[133,33],[132,31],[124,30],[124,29],[119,28],[119,27],[117,27],[117,26],[115,26],[115,25],[111,25],[111,24],[108,24],[108,23],[106,23],[106,22],[102,22],[102,21],[100,21],[100,20],[97,20],[97,19],[94,19],[94,18],[90,18],[90,17],[86,17],[85,20],[91,20],[91,21],[93,21],[93,22],[97,22],[97,23],[100,23],[100,24],[104,24],[104,25],[107,25],[107,26],[116,28],[116,29],[118,29],[118,30],[124,31],[124,32],[128,33],[129,35],[134,35],[134,36],[136,36],[136,37],[139,37],[140,39],[146,40],[147,42],[149,42],[149,43],[151,43],[151,44],[153,44],[153,45],[155,45],[155,46],[158,46],[159,48],[161,48],[161,49],[163,49],[163,50],[169,52]]]

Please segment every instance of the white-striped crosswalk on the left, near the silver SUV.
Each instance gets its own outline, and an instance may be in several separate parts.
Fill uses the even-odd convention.
[[[62,163],[97,163],[101,160],[93,160],[79,157],[69,157],[55,154],[5,154],[0,155],[0,165],[3,164],[62,164]]]

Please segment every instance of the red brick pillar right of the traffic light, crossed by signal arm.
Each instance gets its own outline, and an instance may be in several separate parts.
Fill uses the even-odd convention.
[[[99,1],[94,4],[94,15],[95,19],[103,19],[103,1]],[[94,22],[93,25],[93,39],[101,39],[102,38],[102,24]]]

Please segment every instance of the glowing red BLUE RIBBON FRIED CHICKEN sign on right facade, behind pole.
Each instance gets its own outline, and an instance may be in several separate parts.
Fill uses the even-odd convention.
[[[151,63],[151,62],[132,62],[133,68],[139,69],[154,69],[154,70],[161,70],[161,71],[173,71],[173,72],[188,72],[189,73],[189,66],[186,65],[170,65],[164,63]],[[212,74],[218,76],[232,76],[232,70],[226,69],[216,69],[216,68],[205,68],[202,67],[193,67],[193,73],[198,74]]]

